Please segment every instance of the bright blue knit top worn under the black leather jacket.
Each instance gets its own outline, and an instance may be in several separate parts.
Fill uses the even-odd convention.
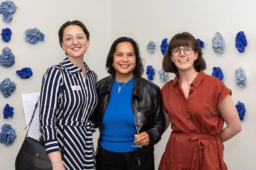
[[[134,144],[136,134],[132,108],[134,76],[124,84],[118,83],[121,87],[118,93],[118,85],[114,79],[110,100],[103,117],[100,145],[111,152],[123,153],[137,150],[131,146]]]

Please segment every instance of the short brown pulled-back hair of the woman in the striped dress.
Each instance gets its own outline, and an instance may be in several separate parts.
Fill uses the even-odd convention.
[[[77,25],[77,26],[81,27],[82,30],[83,30],[83,32],[84,32],[84,34],[86,35],[86,38],[87,38],[88,40],[90,39],[90,33],[89,33],[89,31],[87,30],[86,26],[85,26],[81,21],[78,21],[78,20],[75,20],[75,21],[67,21],[67,22],[65,22],[65,23],[60,27],[60,29],[59,29],[58,35],[59,35],[59,42],[60,42],[60,45],[61,45],[62,40],[63,40],[63,32],[64,32],[64,30],[65,30],[68,26],[70,26],[70,25]],[[62,45],[61,45],[61,48],[62,48]],[[68,54],[66,53],[66,55],[68,55]]]

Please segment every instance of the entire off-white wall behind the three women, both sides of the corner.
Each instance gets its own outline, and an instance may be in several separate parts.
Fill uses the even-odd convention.
[[[105,59],[112,42],[121,36],[134,38],[141,47],[145,58],[145,69],[152,65],[155,69],[153,82],[162,87],[158,78],[163,55],[160,51],[161,41],[168,38],[168,42],[176,33],[190,32],[196,38],[204,41],[203,56],[207,62],[206,74],[211,74],[212,67],[219,66],[224,73],[224,83],[233,90],[232,98],[236,104],[238,100],[246,106],[245,120],[242,121],[242,132],[224,143],[224,160],[231,170],[255,169],[254,159],[256,139],[255,100],[256,71],[255,67],[255,3],[244,0],[215,0],[215,1],[170,1],[170,0],[129,0],[129,1],[39,1],[15,0],[17,11],[10,24],[2,21],[1,29],[8,27],[12,30],[11,41],[0,41],[0,49],[8,46],[15,55],[16,63],[11,68],[0,66],[0,81],[9,77],[15,81],[17,88],[9,98],[0,93],[0,112],[9,103],[14,107],[14,117],[4,119],[0,116],[0,126],[4,123],[16,129],[17,138],[11,146],[0,144],[0,169],[13,170],[14,161],[26,131],[25,118],[22,107],[21,94],[40,91],[41,79],[52,65],[61,62],[65,55],[58,42],[58,29],[68,20],[82,21],[90,31],[90,47],[85,55],[85,62],[98,75],[98,79],[107,76]],[[178,19],[172,24],[174,19]],[[24,41],[24,31],[37,27],[46,35],[44,42],[35,45]],[[215,32],[221,32],[225,40],[225,52],[216,54],[211,48],[211,39]],[[235,48],[237,32],[244,31],[248,45],[244,53]],[[150,54],[146,45],[150,40],[156,43],[156,51]],[[30,67],[33,76],[27,80],[20,79],[16,70]],[[234,71],[243,67],[247,74],[245,88],[238,87],[234,82]],[[174,78],[174,74],[169,74]],[[146,78],[146,74],[144,76]],[[161,156],[170,135],[170,127],[162,136],[162,140],[155,146],[155,167],[158,168]],[[94,145],[97,144],[98,130],[93,135]],[[7,162],[9,162],[7,164]]]

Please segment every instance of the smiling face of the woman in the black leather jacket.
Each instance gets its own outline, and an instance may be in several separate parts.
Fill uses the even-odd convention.
[[[128,80],[131,79],[135,66],[136,56],[133,45],[130,42],[119,43],[115,48],[113,59],[116,78],[126,77]]]

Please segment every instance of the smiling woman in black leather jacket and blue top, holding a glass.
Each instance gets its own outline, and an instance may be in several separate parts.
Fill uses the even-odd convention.
[[[100,130],[96,169],[154,170],[154,145],[166,124],[160,88],[141,77],[139,45],[132,38],[116,39],[106,69],[111,75],[96,83],[99,102],[91,117]],[[135,111],[145,114],[139,135],[135,135]],[[132,147],[136,142],[143,147]]]

